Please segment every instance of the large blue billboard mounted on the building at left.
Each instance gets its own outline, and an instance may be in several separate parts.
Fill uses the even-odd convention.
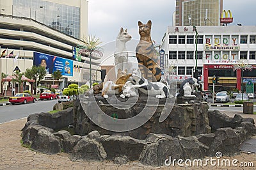
[[[73,76],[73,61],[71,59],[34,52],[33,65],[44,66],[46,73],[60,70],[61,75]]]

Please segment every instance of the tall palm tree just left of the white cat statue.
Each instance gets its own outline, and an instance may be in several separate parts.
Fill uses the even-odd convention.
[[[92,54],[99,55],[100,57],[103,56],[103,48],[100,47],[100,40],[99,38],[95,38],[95,36],[85,36],[82,38],[83,45],[77,45],[79,48],[79,55],[82,56],[90,56],[90,88],[92,88]]]

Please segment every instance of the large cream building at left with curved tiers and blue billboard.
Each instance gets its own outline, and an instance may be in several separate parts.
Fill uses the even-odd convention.
[[[72,2],[0,0],[0,54],[5,50],[3,58],[0,59],[1,73],[12,75],[16,67],[20,72],[25,72],[33,65],[40,65],[39,60],[45,58],[48,59],[47,75],[41,83],[42,86],[51,88],[51,85],[55,84],[51,78],[51,73],[55,70],[63,70],[63,79],[58,81],[58,88],[62,89],[74,82],[88,81],[90,58],[76,55],[76,46],[83,44],[80,38],[87,34],[87,3],[85,0]],[[35,10],[34,18],[32,14],[35,4],[38,9]],[[48,8],[53,12],[47,11]],[[59,20],[60,27],[55,27],[54,23],[57,21],[49,17],[56,14],[54,13],[56,8],[60,8],[61,17],[65,17],[65,20]],[[77,17],[76,10],[79,12],[79,17]],[[74,13],[73,18],[71,13]],[[16,16],[18,14],[20,16]],[[70,18],[66,18],[67,15],[70,15]],[[82,23],[81,20],[85,22]],[[70,27],[70,29],[65,29],[65,27]],[[15,56],[19,56],[17,60],[14,59]],[[92,56],[92,79],[94,81],[100,81],[99,59],[99,56]],[[3,91],[9,91],[11,86],[12,84],[2,80],[0,83],[2,95]]]

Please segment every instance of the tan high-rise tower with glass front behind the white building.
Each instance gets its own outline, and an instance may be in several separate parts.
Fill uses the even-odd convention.
[[[220,26],[223,0],[176,0],[173,26]]]

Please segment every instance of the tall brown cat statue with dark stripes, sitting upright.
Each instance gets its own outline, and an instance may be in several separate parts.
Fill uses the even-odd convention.
[[[154,82],[161,80],[161,68],[157,65],[157,56],[150,36],[151,25],[151,20],[148,20],[147,24],[138,22],[140,42],[136,47],[136,58],[142,76]]]

